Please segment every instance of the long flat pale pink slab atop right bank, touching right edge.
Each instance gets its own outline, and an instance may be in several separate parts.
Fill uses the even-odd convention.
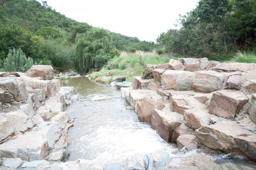
[[[253,63],[244,63],[244,62],[230,62],[230,63],[221,63],[212,67],[211,70],[218,72],[234,72],[234,71],[255,71],[256,64]]]

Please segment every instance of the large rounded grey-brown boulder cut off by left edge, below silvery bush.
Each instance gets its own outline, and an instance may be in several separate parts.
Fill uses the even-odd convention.
[[[8,103],[10,98],[14,98],[15,101],[26,101],[28,92],[25,88],[25,84],[16,78],[0,78],[0,91],[1,91],[1,103]],[[12,97],[10,96],[12,95]],[[3,99],[3,97],[8,97]]]

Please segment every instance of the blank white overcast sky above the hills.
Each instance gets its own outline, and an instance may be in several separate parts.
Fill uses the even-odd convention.
[[[141,41],[155,41],[175,29],[179,14],[196,8],[199,0],[46,0],[52,9],[78,22],[108,29]]]

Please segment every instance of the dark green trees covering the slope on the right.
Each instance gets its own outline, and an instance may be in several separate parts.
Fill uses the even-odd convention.
[[[159,53],[227,60],[237,50],[256,52],[256,0],[201,0],[180,24],[157,38]]]

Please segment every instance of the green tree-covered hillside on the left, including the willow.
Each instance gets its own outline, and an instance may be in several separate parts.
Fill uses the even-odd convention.
[[[76,22],[52,10],[46,1],[0,1],[0,26],[2,71],[4,64],[26,56],[29,63],[51,64],[61,70],[76,68],[86,73],[99,69],[121,51],[148,52],[155,48],[153,42]],[[13,63],[17,64],[12,66],[13,71],[27,67],[19,66],[24,62]]]

